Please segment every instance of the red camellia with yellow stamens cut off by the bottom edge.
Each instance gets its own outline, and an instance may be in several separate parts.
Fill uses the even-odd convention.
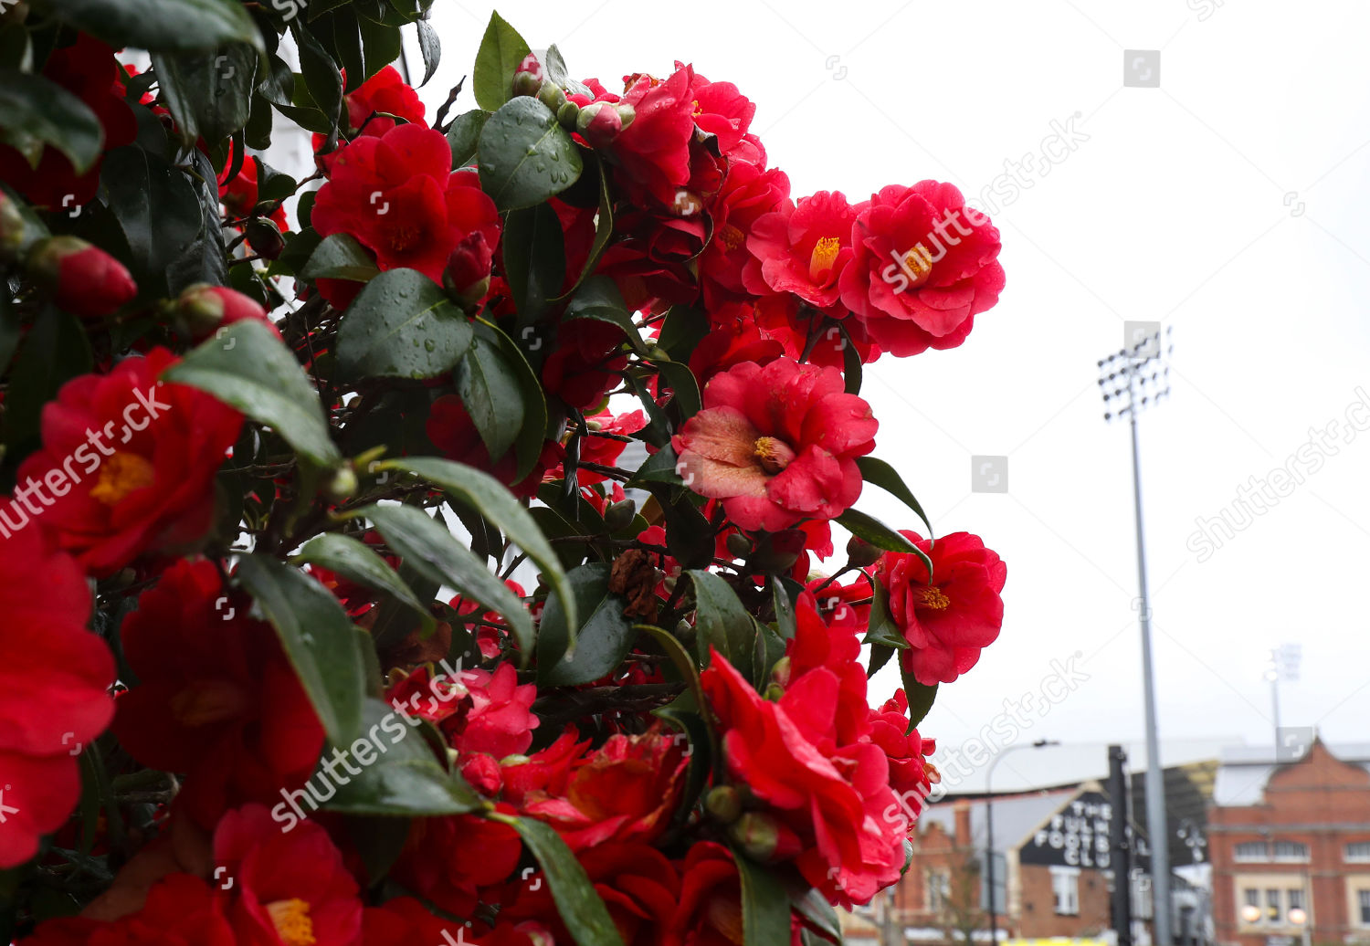
[[[281,831],[262,805],[229,812],[214,831],[214,862],[233,880],[226,913],[237,942],[362,945],[356,880],[318,824]]]

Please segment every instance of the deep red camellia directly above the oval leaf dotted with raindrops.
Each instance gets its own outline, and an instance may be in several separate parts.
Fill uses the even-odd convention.
[[[321,237],[351,233],[382,270],[407,267],[433,282],[469,233],[480,231],[489,246],[500,238],[499,212],[475,171],[453,171],[447,138],[422,125],[362,137],[338,152],[310,222]]]

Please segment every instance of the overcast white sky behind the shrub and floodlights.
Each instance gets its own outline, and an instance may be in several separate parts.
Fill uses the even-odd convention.
[[[1281,689],[1281,721],[1366,741],[1370,433],[1336,441],[1210,560],[1186,539],[1370,387],[1370,7],[1218,3],[501,8],[534,48],[559,44],[574,74],[611,88],[674,59],[736,82],[796,196],[859,200],[922,178],[980,193],[1078,115],[1088,141],[1029,172],[1032,188],[993,215],[1000,304],[964,346],[886,357],[863,392],[881,419],[877,456],[937,533],[977,533],[1008,563],[1003,635],[921,727],[944,747],[1077,653],[1089,680],[1022,738],[1097,749],[1101,769],[1104,743],[1143,735],[1128,431],[1104,423],[1095,383],[1126,319],[1174,327],[1174,393],[1141,431],[1166,761],[1210,754],[1196,741],[1271,741],[1262,671],[1285,641],[1304,660]],[[470,70],[489,12],[434,4],[444,56],[430,108]],[[1123,86],[1125,51],[1160,52],[1159,88]],[[1007,494],[971,493],[971,455],[1008,456]],[[915,524],[875,489],[859,507]],[[873,698],[895,686],[882,672]],[[1052,780],[1054,752],[1017,754],[996,787]]]

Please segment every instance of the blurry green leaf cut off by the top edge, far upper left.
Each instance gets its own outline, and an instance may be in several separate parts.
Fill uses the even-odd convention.
[[[229,42],[264,49],[256,23],[237,0],[49,0],[48,7],[115,49],[189,52]]]

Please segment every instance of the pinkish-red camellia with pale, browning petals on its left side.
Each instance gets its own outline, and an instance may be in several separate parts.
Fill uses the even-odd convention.
[[[722,500],[738,527],[775,531],[856,501],[856,457],[874,449],[877,427],[840,371],[785,357],[714,375],[704,409],[671,442],[690,489]]]

